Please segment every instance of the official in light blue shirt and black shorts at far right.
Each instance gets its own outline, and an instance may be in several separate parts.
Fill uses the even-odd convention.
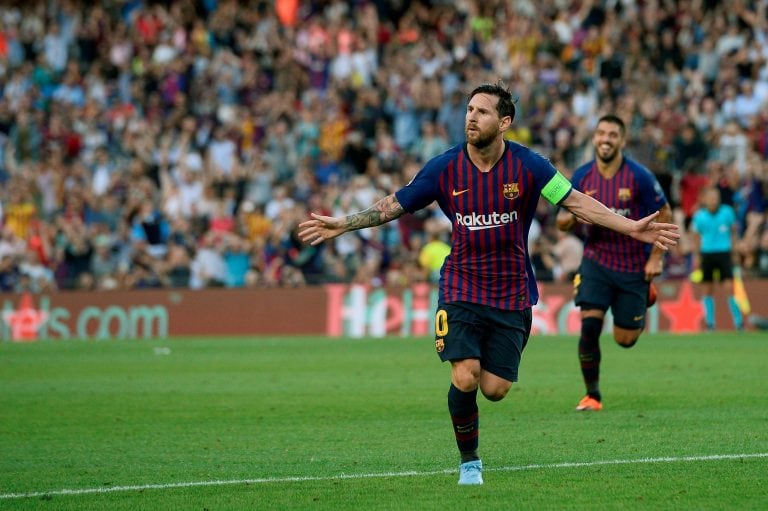
[[[720,202],[720,190],[706,188],[701,194],[701,206],[693,214],[691,237],[694,244],[694,269],[701,270],[704,284],[704,322],[708,330],[715,329],[715,271],[719,282],[728,286],[728,308],[736,330],[744,328],[744,318],[734,296],[734,258],[739,222],[733,208]],[[737,270],[738,271],[738,270]]]

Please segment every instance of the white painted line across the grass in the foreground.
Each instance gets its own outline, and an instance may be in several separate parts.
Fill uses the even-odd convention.
[[[735,460],[744,458],[768,458],[768,452],[745,454],[712,454],[707,456],[680,456],[662,458],[638,458],[634,460],[569,461],[563,463],[536,463],[510,467],[485,468],[486,472],[516,472],[522,470],[541,470],[550,468],[597,467],[604,465],[639,465],[646,463],[679,463],[691,461]],[[62,489],[27,493],[3,493],[0,500],[28,499],[35,497],[53,497],[57,495],[87,495],[93,493],[115,493],[120,491],[166,490],[172,488],[192,488],[195,486],[226,486],[235,484],[297,483],[303,481],[338,481],[342,479],[373,479],[382,477],[417,477],[456,473],[456,469],[427,470],[405,472],[374,472],[369,474],[338,474],[334,476],[289,476],[264,477],[257,479],[230,479],[214,481],[192,481],[186,483],[137,484],[131,486],[110,486],[106,488]]]

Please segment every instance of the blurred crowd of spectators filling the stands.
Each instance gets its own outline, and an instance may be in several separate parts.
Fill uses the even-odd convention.
[[[403,186],[498,79],[508,138],[566,175],[620,115],[684,233],[719,187],[768,276],[764,1],[28,0],[0,6],[0,291],[434,280],[436,207],[321,247],[296,226]],[[554,213],[529,240],[543,281],[581,258]]]

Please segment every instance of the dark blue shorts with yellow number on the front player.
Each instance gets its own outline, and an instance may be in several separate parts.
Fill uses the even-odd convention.
[[[517,381],[531,321],[530,307],[508,311],[469,302],[440,304],[435,314],[435,349],[443,362],[476,358],[485,371]]]

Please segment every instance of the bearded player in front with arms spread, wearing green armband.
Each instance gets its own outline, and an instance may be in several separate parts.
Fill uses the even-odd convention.
[[[451,253],[439,282],[435,348],[451,363],[448,410],[461,455],[459,484],[482,484],[477,453],[477,389],[490,401],[517,380],[520,356],[538,299],[528,259],[528,230],[540,195],[587,222],[604,225],[660,250],[676,244],[677,227],[617,215],[571,184],[534,151],[504,141],[515,116],[512,94],[500,84],[469,95],[466,143],[428,161],[406,186],[345,217],[312,213],[299,225],[317,245],[356,229],[389,222],[437,201],[452,221]]]

